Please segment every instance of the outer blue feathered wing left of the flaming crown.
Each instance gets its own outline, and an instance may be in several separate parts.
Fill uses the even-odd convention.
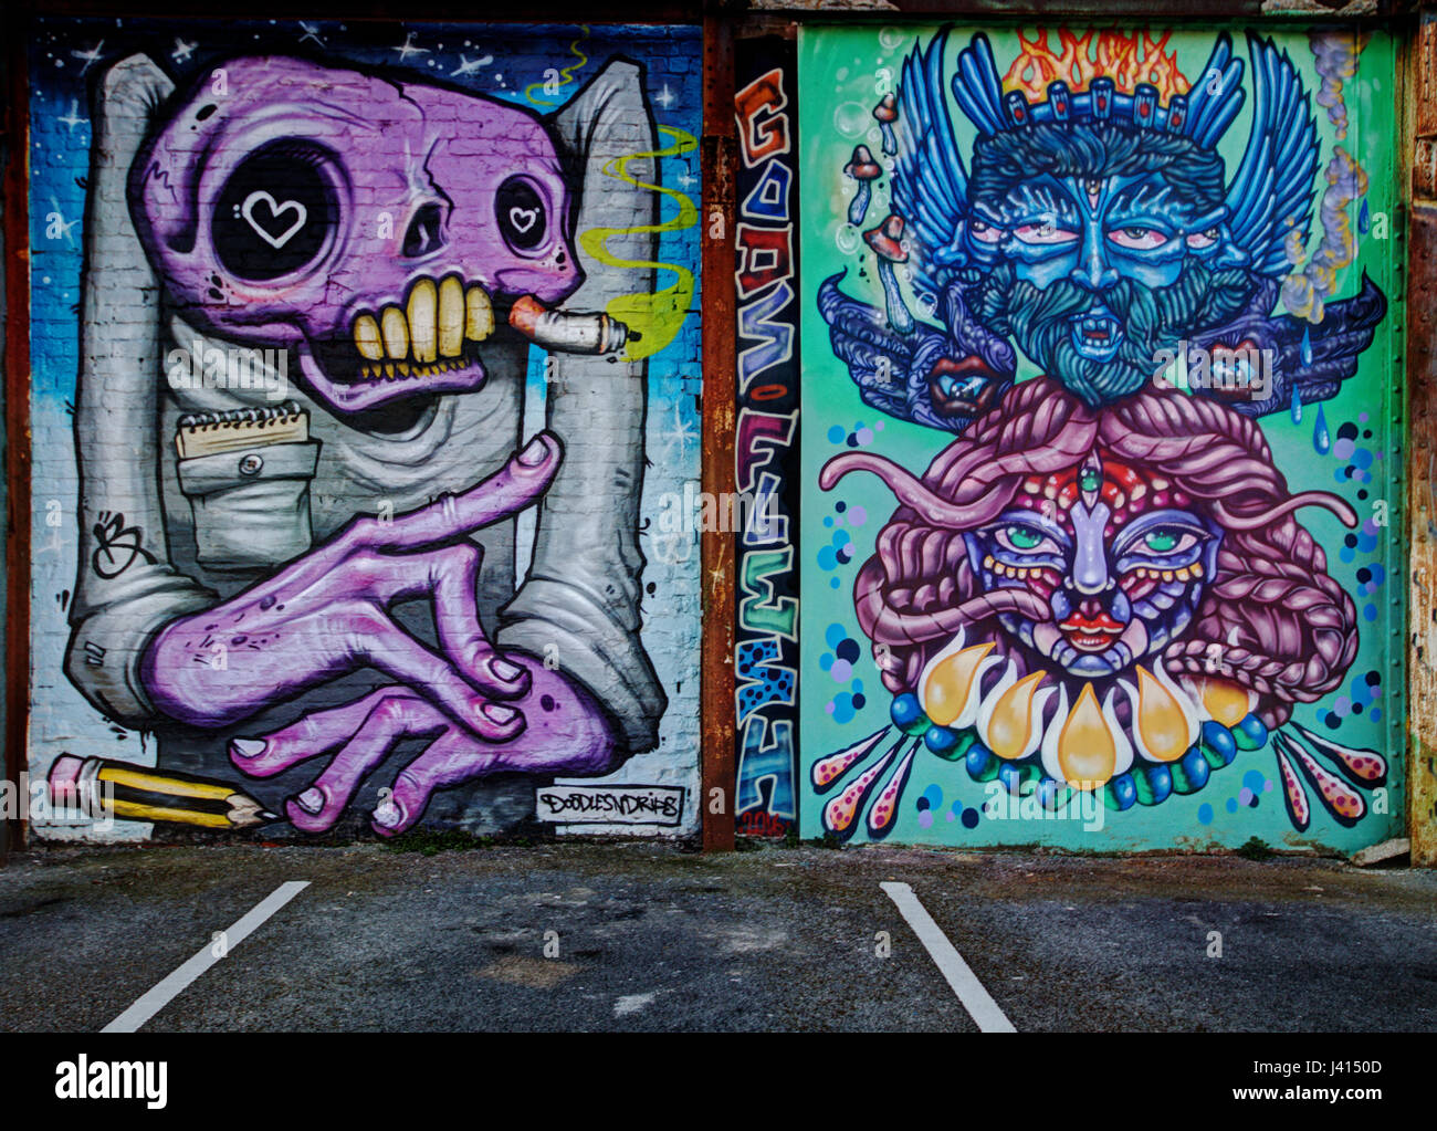
[[[948,270],[961,259],[956,243],[967,198],[967,172],[958,157],[953,119],[943,96],[944,29],[917,43],[904,59],[898,86],[900,145],[892,181],[892,210],[911,234],[918,290],[943,292]]]

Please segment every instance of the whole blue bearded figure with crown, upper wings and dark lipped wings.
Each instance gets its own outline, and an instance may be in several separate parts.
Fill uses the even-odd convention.
[[[1167,101],[1104,76],[1078,91],[1050,82],[1030,102],[1004,91],[984,34],[956,72],[947,39],[914,46],[892,99],[891,213],[864,231],[882,302],[845,295],[842,273],[818,293],[867,404],[961,433],[1026,356],[1099,407],[1150,384],[1184,342],[1267,351],[1262,392],[1196,389],[1246,415],[1326,400],[1355,372],[1385,310],[1368,279],[1322,325],[1273,313],[1288,244],[1311,234],[1318,160],[1311,96],[1285,50],[1249,34],[1249,72],[1224,33],[1203,80]],[[1247,144],[1227,168],[1223,135],[1249,88]],[[948,92],[976,128],[967,154]],[[865,181],[852,224],[872,221],[868,200]]]

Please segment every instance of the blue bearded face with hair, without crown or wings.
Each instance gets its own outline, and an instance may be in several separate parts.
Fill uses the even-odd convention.
[[[1221,237],[1221,162],[1170,132],[1038,125],[980,141],[956,240],[977,318],[1091,404],[1257,289]]]

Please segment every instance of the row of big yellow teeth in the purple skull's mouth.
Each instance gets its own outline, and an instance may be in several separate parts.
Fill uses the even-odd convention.
[[[464,286],[457,274],[417,279],[404,306],[362,313],[351,326],[355,349],[366,362],[359,375],[394,381],[397,377],[434,377],[470,365],[466,339],[483,342],[494,332],[494,306],[479,283]]]

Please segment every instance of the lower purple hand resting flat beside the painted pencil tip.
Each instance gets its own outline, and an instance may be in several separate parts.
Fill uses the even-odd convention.
[[[394,779],[374,811],[382,836],[411,828],[435,789],[502,770],[526,773],[606,773],[618,762],[604,711],[566,675],[532,664],[533,684],[514,703],[529,720],[523,734],[503,744],[476,739],[405,687],[300,719],[260,739],[236,739],[230,759],[251,777],[270,777],[306,759],[338,750],[309,789],[286,802],[295,828],[323,832],[339,819],[355,789],[404,739],[434,742]],[[382,795],[381,795],[382,796]]]

